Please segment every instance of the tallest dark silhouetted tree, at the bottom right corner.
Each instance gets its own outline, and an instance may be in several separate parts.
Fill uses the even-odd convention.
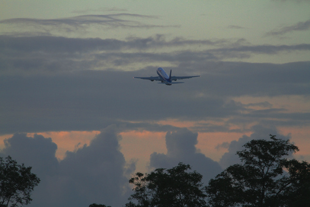
[[[237,152],[242,163],[228,167],[206,186],[211,206],[288,207],[296,199],[309,204],[310,164],[287,159],[299,151],[297,146],[270,135],[270,141],[252,140],[244,147]]]

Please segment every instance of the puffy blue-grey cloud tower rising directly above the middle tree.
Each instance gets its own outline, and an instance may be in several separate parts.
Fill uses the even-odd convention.
[[[150,156],[150,168],[171,168],[179,162],[189,164],[192,170],[203,175],[203,183],[221,172],[216,161],[207,158],[196,149],[197,133],[187,128],[180,128],[174,132],[167,132],[166,147],[167,154],[154,152]]]

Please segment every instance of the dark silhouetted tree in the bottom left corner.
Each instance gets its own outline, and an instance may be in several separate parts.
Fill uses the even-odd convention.
[[[31,191],[40,179],[31,173],[31,167],[17,164],[10,156],[0,157],[0,207],[18,207],[32,201]]]

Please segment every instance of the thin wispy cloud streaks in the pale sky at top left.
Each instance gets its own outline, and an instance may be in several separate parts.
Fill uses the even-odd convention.
[[[86,10],[85,10],[86,12]],[[0,20],[2,25],[14,25],[16,34],[45,33],[47,35],[57,33],[83,32],[93,27],[111,28],[165,28],[178,27],[175,25],[155,25],[142,23],[141,19],[157,19],[158,16],[118,13],[109,15],[81,15],[57,19],[37,18],[11,18]],[[31,31],[31,32],[29,32]]]

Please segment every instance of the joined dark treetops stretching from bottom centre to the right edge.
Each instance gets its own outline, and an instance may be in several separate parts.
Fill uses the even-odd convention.
[[[171,169],[136,173],[126,207],[295,207],[310,204],[310,164],[288,159],[290,140],[251,140],[234,164],[203,186],[202,175],[180,162]],[[136,201],[137,204],[132,201]]]

